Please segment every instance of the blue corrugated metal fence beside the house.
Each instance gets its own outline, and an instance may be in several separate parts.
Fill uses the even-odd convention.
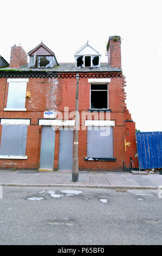
[[[136,132],[139,169],[162,167],[162,132]]]

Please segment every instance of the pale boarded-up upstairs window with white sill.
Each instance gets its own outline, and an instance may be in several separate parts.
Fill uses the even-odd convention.
[[[9,82],[7,108],[24,108],[27,82]]]

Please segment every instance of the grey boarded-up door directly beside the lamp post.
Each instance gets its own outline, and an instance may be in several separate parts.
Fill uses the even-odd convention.
[[[73,161],[73,131],[67,127],[60,130],[59,140],[59,170],[72,170]]]

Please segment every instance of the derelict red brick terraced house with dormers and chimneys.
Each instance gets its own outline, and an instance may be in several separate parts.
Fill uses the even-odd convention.
[[[9,68],[0,69],[0,168],[72,170],[77,74],[79,170],[138,167],[120,36],[109,37],[107,51],[101,63],[87,43],[74,63],[58,63],[42,42],[29,61],[21,46],[11,47]]]

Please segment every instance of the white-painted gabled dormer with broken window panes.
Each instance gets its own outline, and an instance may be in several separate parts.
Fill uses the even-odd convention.
[[[99,68],[100,57],[101,55],[87,43],[75,53],[76,68]]]

